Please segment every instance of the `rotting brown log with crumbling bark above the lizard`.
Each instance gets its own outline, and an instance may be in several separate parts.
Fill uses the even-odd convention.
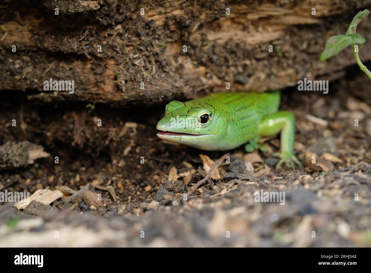
[[[132,106],[226,90],[226,82],[231,90],[264,91],[294,86],[303,78],[333,80],[355,61],[350,48],[319,61],[325,41],[345,33],[352,17],[370,4],[5,0],[0,90],[24,90],[28,99],[50,103]],[[366,41],[371,40],[368,20],[357,29]],[[366,42],[359,53],[363,62],[371,60],[370,46]],[[45,91],[43,82],[50,78],[73,80],[75,92]]]

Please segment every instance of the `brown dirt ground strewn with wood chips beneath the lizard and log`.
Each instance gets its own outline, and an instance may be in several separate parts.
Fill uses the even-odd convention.
[[[49,156],[24,164],[22,158],[8,160],[14,166],[0,171],[0,190],[58,188],[64,196],[24,210],[0,203],[0,247],[370,247],[369,82],[352,66],[330,83],[328,94],[282,91],[280,108],[295,114],[294,147],[304,165],[295,172],[273,167],[279,136],[266,141],[264,153],[246,154],[243,147],[227,155],[200,151],[157,138],[164,105],[37,105],[24,92],[3,92],[2,151],[9,142],[28,149],[28,141]],[[185,201],[183,194],[207,173],[200,154],[222,159],[220,179]],[[285,203],[256,202],[261,190],[285,192]],[[91,207],[93,193],[102,201]]]

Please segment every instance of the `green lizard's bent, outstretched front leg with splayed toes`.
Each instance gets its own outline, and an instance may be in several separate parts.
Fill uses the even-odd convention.
[[[277,113],[265,116],[257,129],[257,135],[261,137],[272,136],[281,132],[281,152],[275,153],[273,156],[280,158],[276,168],[279,168],[282,163],[294,169],[295,164],[302,167],[299,160],[293,154],[293,146],[295,140],[295,117],[289,111],[278,111]]]

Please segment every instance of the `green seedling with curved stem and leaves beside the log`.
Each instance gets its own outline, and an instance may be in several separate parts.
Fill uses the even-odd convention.
[[[359,35],[359,33],[356,33],[357,25],[370,13],[370,10],[363,10],[361,12],[358,12],[356,16],[354,16],[352,22],[350,23],[347,33],[345,35],[336,35],[331,36],[328,38],[325,44],[325,49],[321,53],[321,61],[325,61],[326,59],[336,55],[340,51],[342,51],[344,48],[346,48],[349,45],[352,45],[353,47],[353,54],[355,61],[359,65],[359,68],[363,72],[367,74],[367,76],[371,79],[371,72],[367,69],[367,67],[362,64],[361,60],[358,56],[358,51],[361,49],[361,46],[366,42],[364,38]],[[358,48],[358,44],[359,48]]]

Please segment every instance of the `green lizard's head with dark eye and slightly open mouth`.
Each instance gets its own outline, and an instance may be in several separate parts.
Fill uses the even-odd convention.
[[[210,107],[202,103],[171,101],[166,105],[165,116],[157,124],[157,136],[170,142],[214,150],[213,142],[219,138],[215,133],[216,124]]]

